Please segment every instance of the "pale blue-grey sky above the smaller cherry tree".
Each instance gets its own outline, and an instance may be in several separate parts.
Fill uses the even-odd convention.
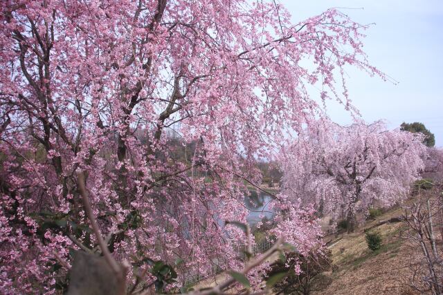
[[[350,98],[367,122],[384,119],[390,128],[422,122],[443,146],[443,1],[442,0],[280,0],[294,22],[340,8],[365,31],[364,50],[373,66],[397,80],[394,85],[366,73],[347,70]],[[363,8],[363,9],[347,9]],[[332,120],[347,124],[349,113],[329,104]]]

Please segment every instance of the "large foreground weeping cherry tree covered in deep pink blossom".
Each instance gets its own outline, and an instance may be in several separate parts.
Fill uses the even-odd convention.
[[[322,99],[353,110],[346,66],[384,79],[361,50],[366,26],[334,9],[300,23],[273,1],[6,0],[0,9],[4,294],[55,292],[66,282],[55,253],[71,263],[69,249],[96,247],[79,171],[118,260],[181,257],[179,280],[216,262],[235,269],[244,235],[222,220],[246,222],[245,180],[261,179],[255,159],[312,122]],[[314,245],[311,211],[283,195],[275,203],[289,212],[275,233]]]

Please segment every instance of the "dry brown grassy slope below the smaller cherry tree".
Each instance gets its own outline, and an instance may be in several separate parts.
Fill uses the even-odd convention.
[[[364,229],[399,215],[401,209],[392,209],[354,234],[329,237],[333,271],[316,279],[313,294],[417,294],[408,287],[413,249],[401,238],[404,225],[394,222],[375,227],[383,236],[383,245],[377,251],[368,249],[365,242]]]

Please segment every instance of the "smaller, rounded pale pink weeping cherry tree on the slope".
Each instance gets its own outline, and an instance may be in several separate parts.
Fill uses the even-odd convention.
[[[408,196],[424,168],[422,135],[388,131],[383,122],[318,125],[300,133],[280,155],[282,190],[294,201],[326,213],[343,211],[352,230],[357,211]]]

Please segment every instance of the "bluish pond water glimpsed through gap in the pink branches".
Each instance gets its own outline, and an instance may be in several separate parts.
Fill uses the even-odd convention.
[[[271,200],[272,197],[267,193],[257,193],[256,191],[251,191],[251,196],[244,197],[244,205],[250,210],[246,220],[251,227],[260,222],[264,217],[268,219],[273,218],[275,215],[273,214],[273,209],[269,209]]]

